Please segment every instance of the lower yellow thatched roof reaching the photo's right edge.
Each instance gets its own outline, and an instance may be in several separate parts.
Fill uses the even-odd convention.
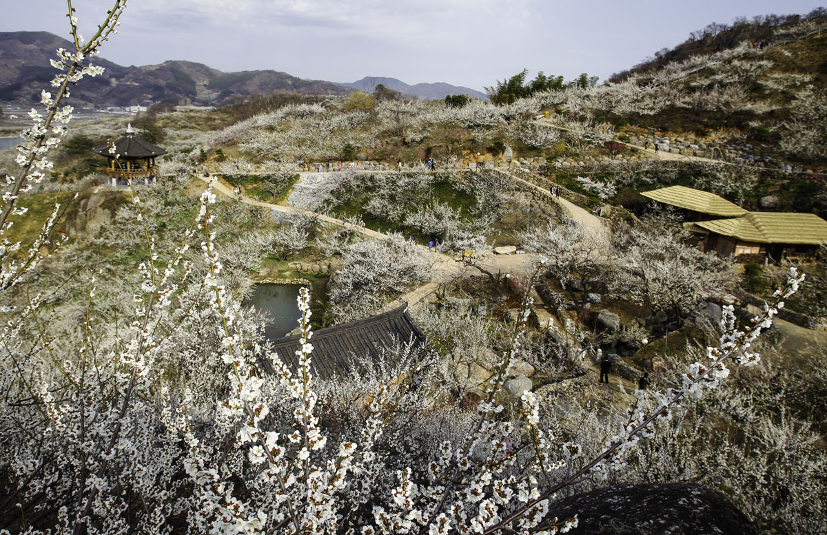
[[[819,245],[827,242],[827,221],[815,214],[748,212],[725,220],[698,221],[705,230],[758,244]]]

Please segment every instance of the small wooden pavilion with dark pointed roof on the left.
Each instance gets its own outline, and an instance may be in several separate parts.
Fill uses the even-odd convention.
[[[108,144],[92,149],[93,153],[106,156],[107,166],[103,168],[103,173],[112,178],[112,186],[127,179],[149,182],[157,178],[159,169],[155,158],[166,154],[165,149],[137,138],[131,124],[127,125],[126,135],[116,140],[114,145],[115,154],[109,152]]]

